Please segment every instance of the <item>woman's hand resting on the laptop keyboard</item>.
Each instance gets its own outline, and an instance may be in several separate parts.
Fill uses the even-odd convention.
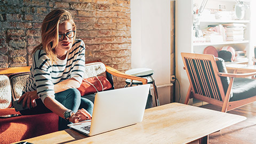
[[[79,109],[75,115],[71,116],[69,118],[69,121],[72,122],[72,123],[78,123],[78,122],[81,122],[81,121],[85,121],[85,120],[88,120],[88,119],[92,119],[92,116],[91,114],[85,110],[85,109]]]

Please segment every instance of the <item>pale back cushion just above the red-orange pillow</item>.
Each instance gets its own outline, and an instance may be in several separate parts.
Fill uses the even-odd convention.
[[[84,78],[90,78],[94,76],[105,76],[106,67],[102,62],[93,62],[85,64]]]

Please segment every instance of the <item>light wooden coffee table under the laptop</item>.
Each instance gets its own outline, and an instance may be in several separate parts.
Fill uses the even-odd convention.
[[[246,117],[181,103],[146,109],[141,123],[86,137],[71,129],[23,140],[31,143],[188,143],[203,139]]]

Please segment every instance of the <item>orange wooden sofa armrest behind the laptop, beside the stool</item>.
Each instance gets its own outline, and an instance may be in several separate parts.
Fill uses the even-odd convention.
[[[127,78],[127,79],[132,79],[135,81],[140,81],[142,82],[142,84],[147,84],[148,80],[146,78],[142,78],[142,77],[138,77],[138,76],[132,76],[132,75],[127,75],[125,73],[122,73],[121,71],[118,71],[112,67],[109,67],[107,65],[106,66],[106,70],[109,74],[114,75],[114,76],[118,76],[118,77],[122,77],[122,78]]]

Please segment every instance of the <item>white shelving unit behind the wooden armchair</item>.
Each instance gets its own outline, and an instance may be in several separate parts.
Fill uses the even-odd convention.
[[[242,0],[241,0],[242,1]],[[243,41],[223,41],[223,42],[204,42],[194,43],[194,31],[193,31],[193,6],[197,4],[198,9],[201,6],[203,0],[178,0],[175,4],[175,75],[180,82],[182,88],[180,92],[180,102],[185,101],[187,90],[189,87],[189,81],[187,78],[186,70],[183,69],[183,61],[181,58],[181,52],[188,53],[203,53],[205,47],[214,46],[218,51],[223,46],[231,46],[235,51],[246,51],[246,56],[249,59],[249,63],[252,64],[252,57],[254,55],[254,49],[251,45],[251,10],[246,9],[245,17],[242,20],[216,20],[216,19],[203,19],[201,17],[199,28],[206,28],[208,25],[222,25],[227,23],[243,23],[246,25],[244,30]],[[243,1],[250,5],[251,1]],[[234,11],[235,0],[208,0],[205,6],[206,9],[219,9],[219,5],[225,5],[226,11]],[[244,62],[242,62],[244,63]],[[179,99],[179,86],[176,86],[176,100]]]

